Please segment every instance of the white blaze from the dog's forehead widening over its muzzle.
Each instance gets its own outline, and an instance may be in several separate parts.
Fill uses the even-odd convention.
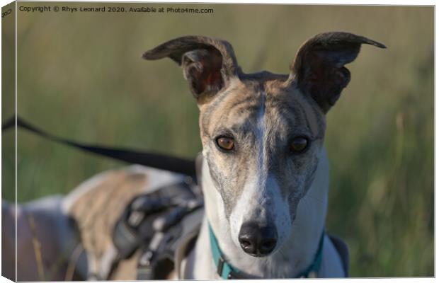
[[[273,225],[277,230],[278,243],[275,250],[282,245],[285,238],[291,233],[290,207],[287,200],[283,199],[278,182],[273,174],[268,171],[268,149],[265,113],[265,93],[261,93],[261,108],[258,113],[256,126],[255,145],[256,156],[254,168],[249,168],[249,176],[242,189],[239,200],[230,214],[230,228],[232,239],[236,246],[239,244],[239,231],[242,224],[251,221],[259,226]]]

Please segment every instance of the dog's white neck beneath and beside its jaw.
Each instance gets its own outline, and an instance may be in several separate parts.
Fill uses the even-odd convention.
[[[264,258],[247,255],[232,241],[222,198],[212,183],[205,161],[203,161],[202,185],[207,217],[195,246],[193,266],[199,267],[199,270],[191,272],[195,279],[219,279],[210,249],[209,224],[227,262],[251,277],[292,278],[312,264],[326,217],[329,168],[324,149],[321,152],[314,181],[297,207],[297,216],[292,224],[290,238],[277,252]]]

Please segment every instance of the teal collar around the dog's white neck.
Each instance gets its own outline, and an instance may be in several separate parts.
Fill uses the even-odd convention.
[[[297,276],[300,277],[317,277],[317,273],[320,270],[321,258],[323,254],[323,239],[325,232],[321,233],[319,248],[317,250],[316,255],[314,256],[314,261],[309,265],[307,270],[304,270]],[[222,277],[222,279],[244,279],[244,274],[237,269],[236,267],[229,264],[224,259],[222,252],[220,250],[220,246],[218,245],[217,238],[215,237],[215,233],[213,233],[212,227],[209,224],[209,236],[210,236],[210,248],[212,250],[213,262],[217,266],[217,273]]]

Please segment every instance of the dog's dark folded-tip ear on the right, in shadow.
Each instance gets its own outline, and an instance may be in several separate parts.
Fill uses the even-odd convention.
[[[320,33],[300,47],[290,67],[290,77],[326,113],[350,81],[350,72],[344,65],[353,62],[363,43],[386,48],[352,33]]]

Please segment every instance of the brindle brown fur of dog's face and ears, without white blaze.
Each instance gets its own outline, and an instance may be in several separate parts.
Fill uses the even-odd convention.
[[[292,202],[307,192],[323,144],[324,114],[347,86],[350,74],[344,65],[357,57],[362,43],[384,47],[350,33],[316,35],[297,52],[290,75],[269,71],[244,74],[232,45],[210,37],[180,37],[144,54],[144,59],[170,57],[183,67],[200,108],[203,154],[227,217],[241,195],[248,171],[255,172],[258,166],[268,168],[283,197]],[[263,115],[263,141],[256,137],[261,130],[258,115]],[[221,134],[234,136],[233,153],[216,149],[215,138]],[[311,146],[307,153],[293,156],[287,151],[288,144],[302,135]],[[254,156],[261,148],[266,153],[260,162]]]

